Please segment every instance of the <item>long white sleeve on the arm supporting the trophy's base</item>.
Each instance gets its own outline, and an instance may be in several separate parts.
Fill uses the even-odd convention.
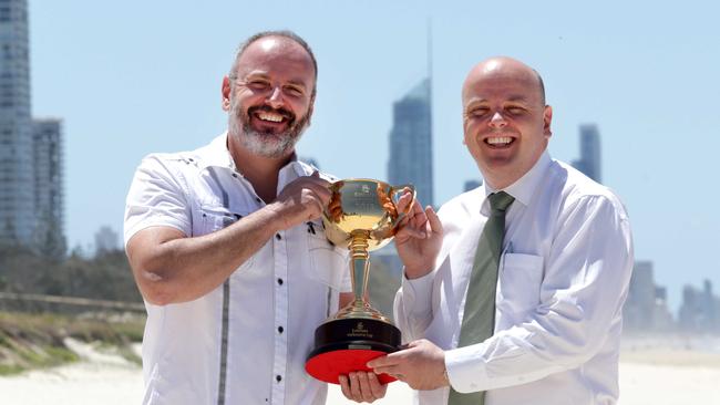
[[[607,196],[585,196],[566,218],[545,258],[541,302],[524,322],[445,352],[456,391],[502,388],[576,368],[619,329],[632,269],[625,210]]]

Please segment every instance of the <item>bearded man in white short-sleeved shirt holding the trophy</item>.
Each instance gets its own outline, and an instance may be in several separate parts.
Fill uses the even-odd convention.
[[[319,221],[328,176],[295,155],[316,80],[302,39],[256,34],[223,80],[227,132],[137,168],[124,237],[147,308],[143,404],[325,404],[304,365],[352,293]],[[374,383],[369,399],[384,394],[373,376],[351,375],[356,392]]]

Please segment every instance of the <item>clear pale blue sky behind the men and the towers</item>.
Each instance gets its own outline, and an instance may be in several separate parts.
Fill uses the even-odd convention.
[[[298,153],[323,170],[385,179],[392,103],[431,72],[434,202],[446,201],[480,177],[462,145],[462,82],[481,60],[513,56],[545,81],[553,157],[576,159],[578,126],[598,125],[603,183],[671,307],[685,284],[720,290],[716,2],[29,2],[33,115],[63,120],[70,247],[92,248],[103,225],[122,235],[142,157],[225,131],[220,83],[237,45],[290,29],[319,65]]]

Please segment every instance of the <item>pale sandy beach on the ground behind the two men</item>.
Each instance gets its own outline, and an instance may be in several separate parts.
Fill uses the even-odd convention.
[[[2,405],[140,404],[140,367],[92,346],[72,343],[82,362],[0,377]],[[720,404],[720,339],[638,338],[624,341],[620,404]],[[411,391],[393,383],[376,404],[411,404]],[[332,386],[329,405],[352,404]]]

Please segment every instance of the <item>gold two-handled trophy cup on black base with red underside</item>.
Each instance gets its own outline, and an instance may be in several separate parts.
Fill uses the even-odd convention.
[[[412,193],[404,212],[398,212],[402,191]],[[350,249],[350,276],[354,300],[326,320],[315,331],[315,349],[305,364],[313,377],[338,384],[338,376],[370,371],[372,359],[400,346],[400,330],[368,302],[368,252],[388,245],[400,220],[412,209],[415,188],[390,186],[373,179],[346,179],[330,185],[332,196],[322,212],[326,237],[336,246]],[[381,374],[387,384],[395,378]]]

